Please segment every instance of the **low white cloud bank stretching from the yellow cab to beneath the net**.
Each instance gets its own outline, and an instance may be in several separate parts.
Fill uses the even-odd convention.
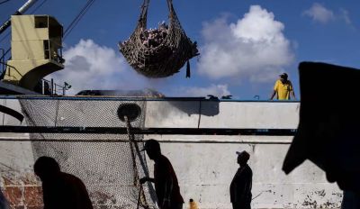
[[[228,85],[211,85],[207,88],[196,86],[172,86],[174,77],[151,79],[143,77],[131,69],[120,52],[99,46],[92,40],[81,40],[75,46],[67,47],[63,52],[65,69],[53,77],[57,84],[67,82],[72,85],[67,95],[76,95],[82,90],[140,90],[145,87],[160,92],[165,90],[169,95],[206,96],[229,95]],[[49,79],[49,77],[47,77]],[[171,94],[172,93],[172,94]]]

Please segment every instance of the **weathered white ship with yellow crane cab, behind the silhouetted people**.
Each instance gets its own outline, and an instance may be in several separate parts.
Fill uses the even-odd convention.
[[[253,169],[252,208],[338,208],[342,192],[310,162],[282,171],[299,124],[297,101],[166,97],[156,90],[83,90],[46,80],[66,68],[63,26],[49,15],[24,15],[29,1],[0,29],[11,26],[12,59],[2,56],[0,186],[13,208],[41,208],[40,156],[82,178],[95,208],[157,208],[153,162],[139,152],[156,139],[171,160],[184,199],[200,208],[231,208],[229,184],[236,152],[247,150]],[[26,35],[25,35],[26,34]],[[134,180],[135,179],[135,180]],[[141,192],[142,191],[142,192]]]

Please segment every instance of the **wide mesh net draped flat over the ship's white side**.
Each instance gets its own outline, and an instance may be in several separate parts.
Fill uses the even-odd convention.
[[[49,156],[63,172],[82,179],[94,208],[156,208],[143,135],[145,101],[19,99],[28,126],[121,127],[128,134],[31,133],[34,158]],[[125,117],[126,116],[126,117]],[[141,192],[140,192],[141,191]]]

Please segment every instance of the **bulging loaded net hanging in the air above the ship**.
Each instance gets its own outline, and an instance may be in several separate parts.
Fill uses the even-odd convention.
[[[190,77],[189,59],[199,55],[197,43],[187,37],[174,10],[172,0],[167,0],[169,26],[165,40],[155,48],[148,48],[141,40],[142,30],[147,28],[149,0],[144,0],[139,23],[120,51],[130,66],[148,78],[170,77],[178,73],[187,61],[186,77]]]

